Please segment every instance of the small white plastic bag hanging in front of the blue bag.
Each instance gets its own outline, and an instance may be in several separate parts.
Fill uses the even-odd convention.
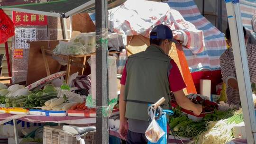
[[[152,119],[148,128],[146,129],[146,139],[151,143],[157,143],[158,140],[165,135],[165,131],[158,125],[155,121],[155,111],[153,112],[152,108],[150,109],[150,117]]]

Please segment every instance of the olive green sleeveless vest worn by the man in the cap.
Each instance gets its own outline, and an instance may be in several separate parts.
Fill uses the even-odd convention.
[[[164,107],[169,109],[169,81],[167,69],[171,58],[155,45],[146,51],[128,57],[125,84],[126,117],[148,120],[148,104],[165,97]]]

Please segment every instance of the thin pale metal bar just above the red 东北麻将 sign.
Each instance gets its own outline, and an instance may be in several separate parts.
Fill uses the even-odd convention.
[[[3,8],[3,9],[61,18],[61,14],[59,14],[59,13],[37,11],[37,10],[30,10],[30,9],[20,9],[20,8]]]

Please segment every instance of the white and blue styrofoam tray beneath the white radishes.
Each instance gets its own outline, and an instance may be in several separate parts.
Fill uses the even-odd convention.
[[[41,109],[30,109],[30,115],[39,115],[39,116],[66,116],[67,113],[65,110],[41,110]]]

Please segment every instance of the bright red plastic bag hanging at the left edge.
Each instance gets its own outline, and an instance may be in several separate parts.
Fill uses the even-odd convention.
[[[14,24],[2,9],[0,9],[0,44],[5,43],[14,35]]]

